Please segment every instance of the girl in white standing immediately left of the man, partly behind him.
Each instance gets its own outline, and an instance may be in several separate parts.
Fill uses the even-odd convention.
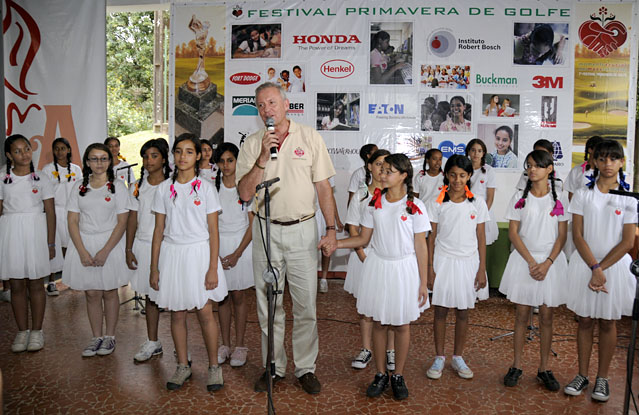
[[[235,187],[235,166],[240,150],[233,143],[220,144],[213,155],[218,167],[215,187],[220,196],[220,258],[229,294],[218,306],[222,346],[217,351],[217,362],[230,358],[231,367],[244,366],[248,348],[244,343],[248,315],[248,289],[255,286],[251,229],[255,214],[251,204],[240,200]],[[232,304],[231,304],[232,303]],[[235,310],[235,349],[231,353],[231,309]]]

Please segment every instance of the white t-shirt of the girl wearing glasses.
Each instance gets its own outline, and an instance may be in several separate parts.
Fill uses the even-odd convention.
[[[109,182],[107,182],[109,183]],[[112,232],[118,224],[118,215],[127,212],[129,194],[124,182],[116,180],[115,194],[104,184],[98,189],[87,185],[87,192],[80,196],[82,182],[76,182],[71,189],[67,210],[80,214],[80,232],[86,234]]]

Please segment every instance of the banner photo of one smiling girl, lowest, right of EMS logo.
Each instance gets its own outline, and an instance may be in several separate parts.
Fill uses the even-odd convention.
[[[496,169],[517,169],[519,124],[477,124],[477,137],[486,144],[486,164]]]

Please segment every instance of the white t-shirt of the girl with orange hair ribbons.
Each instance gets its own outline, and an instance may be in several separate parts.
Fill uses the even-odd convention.
[[[478,254],[477,224],[489,220],[486,202],[476,197],[460,203],[428,205],[428,216],[437,224],[435,247],[438,253],[453,258],[471,258]]]

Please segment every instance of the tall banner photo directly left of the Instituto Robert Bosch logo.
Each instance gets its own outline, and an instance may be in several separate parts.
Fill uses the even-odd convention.
[[[412,85],[413,24],[371,23],[371,84]]]

